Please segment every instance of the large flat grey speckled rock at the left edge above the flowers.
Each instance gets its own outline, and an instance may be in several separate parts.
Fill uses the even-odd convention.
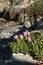
[[[1,30],[0,32],[0,39],[1,38],[10,38],[13,36],[13,34],[17,33],[20,31],[20,28],[22,28],[23,25],[18,25],[18,26],[9,26]]]

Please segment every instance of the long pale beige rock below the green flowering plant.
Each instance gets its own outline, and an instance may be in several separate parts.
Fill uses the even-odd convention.
[[[36,64],[37,60],[34,60],[30,55],[24,55],[23,53],[13,53],[12,54],[13,60],[18,60],[18,61],[26,61],[32,64]]]

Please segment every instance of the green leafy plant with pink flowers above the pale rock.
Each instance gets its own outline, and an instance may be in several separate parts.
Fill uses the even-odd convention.
[[[34,59],[43,61],[43,33],[23,32],[13,36],[14,41],[9,43],[13,53],[31,55]]]

